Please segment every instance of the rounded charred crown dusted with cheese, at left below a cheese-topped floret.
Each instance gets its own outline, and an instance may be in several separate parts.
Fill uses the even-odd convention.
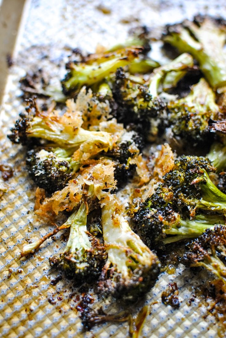
[[[48,150],[48,151],[47,151]],[[48,192],[63,189],[72,174],[79,168],[79,162],[70,157],[71,150],[49,148],[27,153],[28,172],[34,182]]]

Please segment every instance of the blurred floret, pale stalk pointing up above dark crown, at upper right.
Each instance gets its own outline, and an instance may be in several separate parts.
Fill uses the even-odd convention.
[[[189,140],[194,145],[211,140],[209,119],[215,120],[219,106],[215,103],[215,93],[205,79],[192,86],[186,97],[169,102],[168,120],[174,136]]]

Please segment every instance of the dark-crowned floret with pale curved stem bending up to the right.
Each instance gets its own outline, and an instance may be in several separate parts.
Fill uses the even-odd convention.
[[[186,71],[192,66],[193,59],[189,54],[180,55],[171,63],[156,68],[147,85],[134,82],[126,76],[122,68],[119,68],[112,88],[113,97],[118,105],[118,121],[125,125],[129,123],[140,125],[142,134],[149,141],[154,141],[159,126],[163,128],[167,119],[166,103],[159,98],[162,82],[167,73],[174,70]]]

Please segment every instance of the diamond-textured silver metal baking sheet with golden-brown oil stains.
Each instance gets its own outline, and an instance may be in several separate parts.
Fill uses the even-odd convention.
[[[15,0],[16,1],[16,0]],[[104,14],[100,8],[109,9]],[[13,10],[13,6],[11,7]],[[2,337],[127,337],[127,323],[105,323],[84,333],[75,310],[78,290],[71,281],[51,281],[58,272],[50,269],[48,258],[66,245],[63,234],[55,241],[47,240],[29,258],[19,258],[25,238],[32,241],[45,235],[51,227],[33,214],[35,186],[24,172],[24,149],[7,139],[10,126],[23,111],[18,81],[25,71],[42,67],[54,78],[62,78],[61,67],[70,49],[80,47],[93,52],[98,43],[114,45],[126,38],[130,27],[146,24],[153,35],[165,23],[192,18],[197,13],[226,17],[225,1],[45,1],[32,0],[23,19],[18,37],[17,57],[9,69],[0,115],[0,162],[14,167],[15,175],[8,181],[8,192],[0,200],[0,333]],[[159,45],[153,55],[158,58]],[[9,277],[9,278],[8,278]],[[155,287],[147,294],[150,305],[143,328],[143,337],[185,338],[218,337],[218,324],[208,315],[196,298],[189,306],[194,287],[205,282],[208,274],[198,276],[179,266],[174,274],[164,272]],[[169,282],[178,284],[180,308],[173,310],[161,303],[161,292]],[[54,283],[52,283],[54,284]],[[71,295],[73,294],[73,295]],[[70,295],[70,297],[69,297]],[[58,297],[58,299],[57,299]],[[61,299],[62,298],[62,299]],[[101,302],[100,302],[101,303]],[[110,300],[106,302],[106,305]],[[114,310],[114,307],[111,308]]]

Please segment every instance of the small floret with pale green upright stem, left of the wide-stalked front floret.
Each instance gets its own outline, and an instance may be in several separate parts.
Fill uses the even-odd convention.
[[[76,280],[83,281],[97,278],[107,258],[104,245],[96,237],[88,235],[86,221],[87,209],[82,202],[79,210],[67,220],[71,229],[65,252],[59,258],[50,259],[51,266],[57,266]]]

